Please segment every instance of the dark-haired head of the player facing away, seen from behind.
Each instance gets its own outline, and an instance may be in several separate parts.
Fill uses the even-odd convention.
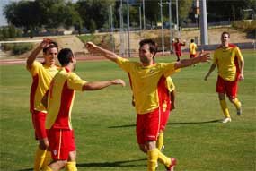
[[[73,64],[74,70],[75,70],[76,60],[75,60],[75,56],[70,48],[61,49],[58,52],[57,59],[58,59],[59,64],[61,64],[61,66]]]

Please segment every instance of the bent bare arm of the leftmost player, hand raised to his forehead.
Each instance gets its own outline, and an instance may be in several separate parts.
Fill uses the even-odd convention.
[[[50,42],[50,41],[51,41],[51,40],[48,39],[48,38],[43,39],[43,41],[40,43],[40,45],[39,45],[38,47],[36,47],[36,48],[32,51],[31,55],[30,55],[30,56],[28,57],[28,59],[27,59],[27,67],[28,67],[28,68],[31,69],[31,65],[32,65],[33,62],[36,60],[36,57],[40,54],[40,51],[41,51],[43,48],[49,46],[49,42]]]

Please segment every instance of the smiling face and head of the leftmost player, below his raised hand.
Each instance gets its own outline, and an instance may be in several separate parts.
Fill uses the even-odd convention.
[[[48,64],[48,65],[55,64],[55,59],[57,58],[57,51],[58,51],[57,42],[49,40],[49,45],[43,48],[43,55],[45,59],[43,64]]]

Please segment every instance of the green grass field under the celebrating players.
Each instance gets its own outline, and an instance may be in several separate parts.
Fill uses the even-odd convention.
[[[245,80],[238,93],[243,115],[237,116],[227,102],[233,119],[228,124],[218,122],[223,115],[215,92],[216,71],[203,81],[210,64],[191,66],[172,76],[177,104],[166,128],[163,152],[178,159],[176,171],[256,170],[255,55],[255,51],[243,52]],[[174,58],[156,60],[170,62]],[[0,170],[29,171],[37,145],[29,112],[31,76],[24,65],[0,68]],[[127,74],[109,61],[78,62],[76,73],[86,81],[122,78],[128,84]],[[146,155],[137,148],[129,84],[76,95],[72,122],[78,170],[146,170]]]

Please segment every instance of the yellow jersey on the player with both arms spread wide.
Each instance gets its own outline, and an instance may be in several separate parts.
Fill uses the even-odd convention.
[[[175,73],[174,63],[143,66],[137,62],[118,57],[117,64],[128,73],[137,114],[146,114],[159,107],[157,84],[162,76]]]

